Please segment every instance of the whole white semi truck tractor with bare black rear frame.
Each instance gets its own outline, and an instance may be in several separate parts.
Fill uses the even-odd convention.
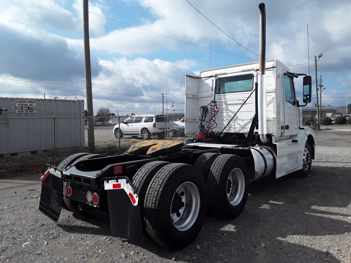
[[[219,218],[238,216],[251,181],[307,176],[315,142],[302,125],[301,106],[311,102],[311,76],[266,60],[263,3],[259,10],[259,62],[186,76],[191,139],[143,141],[115,156],[71,155],[43,172],[39,210],[56,222],[61,207],[100,215],[110,220],[112,235],[183,248],[201,231],[208,209]]]

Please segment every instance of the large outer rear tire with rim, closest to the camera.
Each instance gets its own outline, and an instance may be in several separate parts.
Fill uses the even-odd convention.
[[[184,248],[201,231],[207,205],[206,181],[201,173],[190,164],[167,164],[156,173],[147,189],[145,228],[158,244]]]

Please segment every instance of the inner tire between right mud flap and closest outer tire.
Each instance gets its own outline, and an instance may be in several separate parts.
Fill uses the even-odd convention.
[[[152,178],[155,176],[155,174],[166,164],[169,164],[170,162],[164,162],[164,161],[154,161],[147,163],[143,165],[133,176],[132,182],[137,189],[137,195],[139,197],[139,206],[140,206],[140,215],[141,215],[141,223],[142,223],[142,230],[143,230],[143,235],[145,237],[150,238],[148,235],[146,229],[145,229],[145,224],[144,224],[144,216],[143,216],[143,211],[144,211],[144,200],[145,200],[145,195],[147,188],[149,187],[149,184],[152,180]]]

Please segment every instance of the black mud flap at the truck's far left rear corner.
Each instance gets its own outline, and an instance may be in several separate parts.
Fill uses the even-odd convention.
[[[59,220],[61,213],[63,201],[62,189],[62,180],[53,174],[49,174],[41,184],[39,211],[55,222]]]

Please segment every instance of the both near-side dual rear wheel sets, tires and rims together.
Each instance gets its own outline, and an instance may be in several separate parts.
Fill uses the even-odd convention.
[[[206,153],[194,166],[147,163],[135,173],[133,184],[138,190],[143,234],[160,245],[179,249],[197,237],[207,208],[226,219],[241,213],[249,176],[241,157]]]

